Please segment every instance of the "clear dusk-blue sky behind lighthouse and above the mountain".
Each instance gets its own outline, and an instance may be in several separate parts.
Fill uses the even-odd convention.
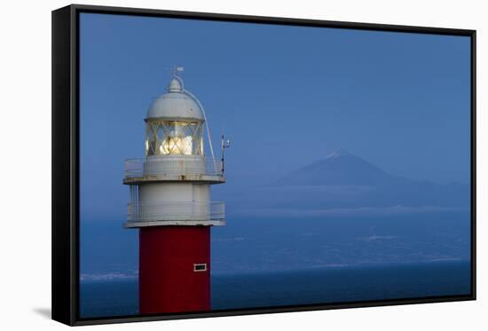
[[[123,161],[167,67],[205,106],[228,183],[265,185],[345,149],[399,176],[469,180],[469,38],[81,15],[83,220],[123,221]],[[209,149],[207,148],[207,153]]]

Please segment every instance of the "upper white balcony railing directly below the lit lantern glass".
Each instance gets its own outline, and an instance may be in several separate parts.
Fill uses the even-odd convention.
[[[158,155],[125,161],[126,178],[144,176],[222,176],[222,162],[195,155]]]

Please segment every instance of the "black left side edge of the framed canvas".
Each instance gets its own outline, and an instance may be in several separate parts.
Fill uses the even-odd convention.
[[[51,12],[51,318],[74,325],[71,6]]]

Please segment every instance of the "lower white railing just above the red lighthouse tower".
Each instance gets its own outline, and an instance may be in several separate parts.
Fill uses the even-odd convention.
[[[130,202],[128,222],[221,221],[225,219],[223,201],[209,202]]]

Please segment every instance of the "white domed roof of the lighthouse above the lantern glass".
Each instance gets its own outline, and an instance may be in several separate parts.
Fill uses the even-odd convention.
[[[204,121],[203,112],[197,101],[183,88],[180,77],[174,76],[169,82],[167,93],[153,100],[147,110],[146,119],[197,120]]]

